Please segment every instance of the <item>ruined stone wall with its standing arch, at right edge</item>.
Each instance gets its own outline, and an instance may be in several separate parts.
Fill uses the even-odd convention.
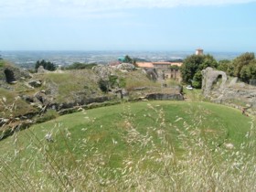
[[[207,68],[202,70],[202,93],[210,101],[246,108],[256,113],[256,87],[231,78],[225,72]]]

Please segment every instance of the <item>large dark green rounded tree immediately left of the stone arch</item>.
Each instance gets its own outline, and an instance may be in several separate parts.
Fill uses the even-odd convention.
[[[184,82],[189,84],[193,82],[195,88],[201,88],[201,70],[207,67],[217,68],[217,66],[218,62],[210,55],[192,55],[184,60],[181,76]]]

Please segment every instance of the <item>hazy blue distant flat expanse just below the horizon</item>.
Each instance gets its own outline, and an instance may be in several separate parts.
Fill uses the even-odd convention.
[[[108,64],[120,57],[129,55],[131,58],[147,61],[164,61],[186,59],[194,54],[192,51],[1,51],[3,59],[9,60],[23,68],[34,68],[39,59],[45,59],[56,65],[67,66],[74,62]],[[239,52],[205,52],[215,59],[234,59]]]

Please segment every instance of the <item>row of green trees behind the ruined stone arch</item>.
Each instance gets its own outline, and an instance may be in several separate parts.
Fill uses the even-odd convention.
[[[201,88],[201,70],[211,67],[225,71],[229,76],[238,77],[249,83],[256,79],[256,59],[254,53],[244,53],[233,60],[214,59],[211,55],[192,55],[184,60],[181,67],[181,75],[184,82],[192,84],[195,88]]]

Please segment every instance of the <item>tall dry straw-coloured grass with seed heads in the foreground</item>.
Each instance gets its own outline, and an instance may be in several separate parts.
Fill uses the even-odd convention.
[[[203,113],[194,115],[194,122],[182,117],[177,127],[166,123],[165,112],[159,106],[148,104],[148,112],[158,114],[157,126],[147,127],[141,133],[134,123],[134,114],[128,107],[123,112],[122,140],[137,154],[127,157],[122,165],[106,166],[112,154],[102,154],[96,145],[89,145],[80,138],[74,147],[69,144],[73,136],[67,127],[56,123],[50,133],[53,138],[61,135],[65,151],[54,151],[52,143],[39,138],[28,129],[28,144],[21,144],[19,133],[12,137],[14,151],[0,157],[0,188],[2,191],[255,191],[255,122],[244,137],[248,142],[234,146],[224,141],[219,145],[209,143],[198,129],[205,118]],[[188,109],[189,111],[189,109]],[[150,117],[152,118],[152,117]],[[95,120],[91,119],[91,123]],[[169,134],[174,129],[178,137]],[[86,128],[82,129],[86,131]],[[176,147],[176,140],[180,144]],[[58,142],[58,141],[54,141]],[[118,145],[112,138],[112,145]],[[25,147],[25,148],[24,148]],[[80,148],[83,154],[77,155]],[[23,153],[29,151],[30,155]],[[54,153],[53,153],[54,152]],[[89,153],[90,152],[90,153]],[[89,155],[90,154],[90,155]]]

